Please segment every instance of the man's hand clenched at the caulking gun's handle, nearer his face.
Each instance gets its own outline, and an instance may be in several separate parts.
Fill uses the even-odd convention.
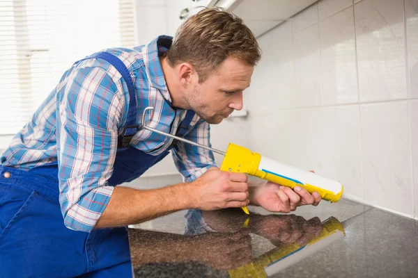
[[[218,167],[210,168],[189,183],[188,193],[193,207],[203,211],[249,204],[247,175],[221,171]]]

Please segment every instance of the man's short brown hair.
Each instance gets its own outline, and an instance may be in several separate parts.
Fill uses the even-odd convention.
[[[191,63],[199,74],[199,83],[230,56],[254,66],[261,50],[242,19],[222,8],[204,8],[189,17],[178,28],[167,52],[171,66]]]

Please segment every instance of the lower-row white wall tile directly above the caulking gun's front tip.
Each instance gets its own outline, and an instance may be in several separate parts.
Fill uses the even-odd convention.
[[[344,192],[363,197],[358,105],[322,109],[318,174],[340,181]]]

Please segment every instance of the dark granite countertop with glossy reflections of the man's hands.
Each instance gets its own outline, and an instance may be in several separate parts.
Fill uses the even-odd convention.
[[[417,221],[341,199],[179,211],[131,227],[136,277],[418,277]]]

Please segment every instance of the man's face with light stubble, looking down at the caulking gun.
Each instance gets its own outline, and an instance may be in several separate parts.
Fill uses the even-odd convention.
[[[254,67],[238,58],[226,58],[201,84],[194,79],[185,92],[190,108],[209,124],[219,124],[234,110],[242,109],[242,91],[249,86]]]

